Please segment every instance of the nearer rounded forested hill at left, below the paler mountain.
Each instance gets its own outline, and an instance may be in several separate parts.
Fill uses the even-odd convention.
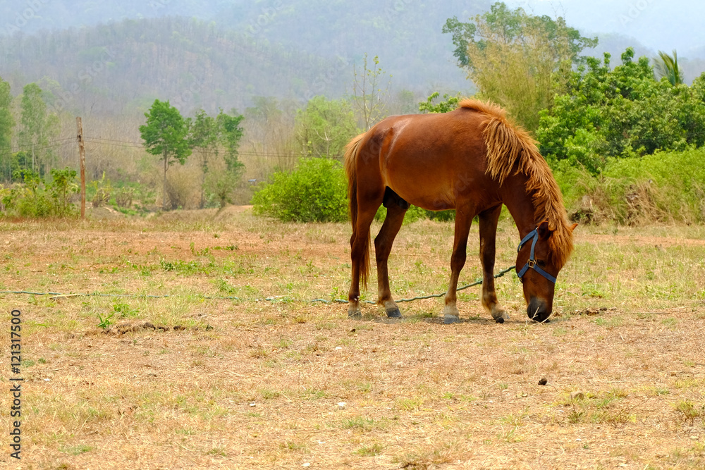
[[[49,106],[82,113],[143,112],[154,97],[187,111],[242,108],[252,96],[302,101],[337,66],[186,18],[13,35],[1,40],[0,51],[0,76],[13,90],[39,82]],[[318,92],[341,94],[345,81],[321,85]]]

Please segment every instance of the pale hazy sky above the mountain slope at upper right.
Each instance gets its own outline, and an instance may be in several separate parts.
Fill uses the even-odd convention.
[[[678,49],[688,56],[705,47],[703,0],[507,0],[508,6],[563,16],[585,34],[612,32],[634,37],[654,51]]]

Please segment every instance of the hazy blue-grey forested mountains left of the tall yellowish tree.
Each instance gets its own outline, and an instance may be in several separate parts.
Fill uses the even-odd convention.
[[[149,18],[170,13],[175,5],[133,3],[109,11],[79,2],[78,14],[71,16],[58,4],[40,2],[36,18],[16,22],[23,27],[6,23],[4,32],[11,34],[0,37],[0,76],[13,90],[44,80],[42,89],[67,97],[63,101],[68,103],[59,104],[78,111],[121,113],[130,106],[144,110],[154,97],[188,101],[187,111],[215,110],[242,108],[257,96],[299,102],[315,94],[341,97],[353,79],[353,66],[360,66],[369,54],[379,56],[392,76],[392,89],[411,89],[419,97],[433,89],[467,93],[472,86],[455,65],[450,40],[441,28],[449,16],[472,16],[490,2],[285,5],[275,0],[229,2],[201,10],[179,2],[180,13],[206,20]],[[7,4],[4,8],[11,18]],[[142,18],[125,19],[135,16]],[[50,27],[57,28],[110,19],[97,26],[27,34],[36,25],[46,25],[49,17],[54,18]]]

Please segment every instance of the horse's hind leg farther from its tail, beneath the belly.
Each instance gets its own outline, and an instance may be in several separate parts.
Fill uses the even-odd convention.
[[[396,195],[396,194],[395,194]],[[403,200],[400,199],[402,202]],[[377,262],[377,284],[379,286],[379,297],[377,304],[384,307],[389,317],[400,317],[401,312],[396,302],[392,299],[389,289],[389,276],[387,272],[387,260],[392,249],[394,237],[399,233],[401,224],[404,221],[408,204],[400,204],[396,200],[385,199],[384,205],[387,207],[387,216],[384,218],[382,228],[374,238],[374,255]]]

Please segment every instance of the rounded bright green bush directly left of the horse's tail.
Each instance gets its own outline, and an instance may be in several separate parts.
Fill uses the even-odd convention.
[[[339,161],[302,159],[255,193],[253,212],[285,222],[341,222],[348,219],[347,190]]]

